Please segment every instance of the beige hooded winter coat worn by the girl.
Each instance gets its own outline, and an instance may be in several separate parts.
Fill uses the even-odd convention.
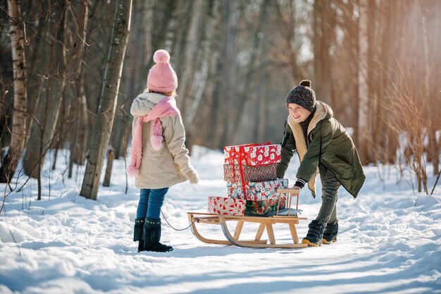
[[[162,94],[143,92],[135,98],[130,109],[134,116],[132,133],[140,116],[163,99]],[[164,142],[159,151],[151,147],[151,122],[142,124],[142,159],[139,174],[135,177],[136,188],[159,189],[182,183],[187,178],[183,173],[192,169],[188,149],[185,147],[185,129],[180,115],[160,118]]]

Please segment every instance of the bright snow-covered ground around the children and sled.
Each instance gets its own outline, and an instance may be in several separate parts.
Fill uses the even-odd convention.
[[[78,195],[84,167],[66,178],[66,154],[59,153],[58,169],[44,172],[42,201],[36,200],[35,181],[6,197],[0,214],[2,294],[441,293],[440,183],[434,195],[418,194],[396,169],[366,167],[366,184],[356,200],[340,189],[340,233],[332,245],[209,245],[190,229],[173,230],[163,219],[161,241],[173,245],[173,252],[138,253],[132,242],[138,191],[129,179],[125,194],[124,162],[114,162],[111,187],[100,187],[93,201]],[[192,163],[199,184],[170,188],[163,206],[175,228],[188,226],[186,212],[204,212],[207,196],[226,195],[221,152],[196,148]],[[291,183],[297,166],[293,161],[287,171]],[[430,190],[434,182],[431,177]],[[302,216],[313,219],[319,205],[319,197],[314,200],[302,190]],[[306,235],[307,224],[297,226],[299,238]],[[218,226],[200,228],[207,235],[223,235]],[[251,231],[245,226],[242,235],[254,237]],[[284,226],[275,226],[275,235],[290,238]]]

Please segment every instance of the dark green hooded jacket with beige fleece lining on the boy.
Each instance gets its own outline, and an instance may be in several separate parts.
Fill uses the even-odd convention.
[[[294,150],[297,150],[300,166],[296,176],[308,181],[313,197],[316,196],[318,164],[334,173],[342,186],[356,197],[366,179],[363,166],[354,142],[343,126],[333,118],[333,110],[327,104],[316,102],[316,112],[309,123],[307,138],[308,142],[305,142],[302,127],[288,116],[282,141],[282,161],[278,164],[277,176],[283,178]]]

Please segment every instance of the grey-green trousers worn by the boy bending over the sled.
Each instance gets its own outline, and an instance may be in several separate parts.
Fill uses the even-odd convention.
[[[335,178],[334,173],[325,169],[324,166],[318,166],[321,179],[321,207],[316,221],[326,226],[327,223],[337,221],[337,199],[338,189],[341,184]]]

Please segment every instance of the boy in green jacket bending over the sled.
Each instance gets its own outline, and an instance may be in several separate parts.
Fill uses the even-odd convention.
[[[342,185],[349,193],[358,195],[366,176],[347,131],[333,118],[327,104],[316,101],[311,81],[302,80],[288,93],[286,105],[289,116],[282,140],[282,161],[277,176],[283,178],[288,164],[297,150],[300,166],[293,188],[308,185],[316,197],[316,175],[320,172],[322,202],[318,216],[309,223],[309,231],[302,243],[320,246],[337,241],[337,198]]]

